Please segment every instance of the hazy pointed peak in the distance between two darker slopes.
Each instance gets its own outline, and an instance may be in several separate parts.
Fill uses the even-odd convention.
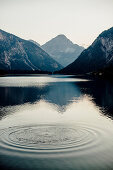
[[[64,67],[72,63],[84,50],[62,34],[42,45],[42,49]]]

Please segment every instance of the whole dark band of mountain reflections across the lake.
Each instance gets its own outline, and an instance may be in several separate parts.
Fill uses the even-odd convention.
[[[84,94],[113,116],[113,83],[108,81],[51,82],[37,87],[0,87],[0,107],[23,105],[40,100],[57,106],[58,111],[66,111],[67,106]],[[0,111],[2,114],[2,111]],[[6,113],[7,114],[7,113]]]

